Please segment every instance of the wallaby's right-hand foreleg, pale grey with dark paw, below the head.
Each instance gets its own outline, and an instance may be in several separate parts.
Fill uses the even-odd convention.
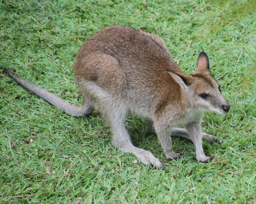
[[[194,122],[191,124],[186,125],[186,129],[188,131],[188,134],[190,135],[192,142],[195,145],[196,148],[196,159],[198,162],[209,162],[209,160],[212,160],[214,156],[205,156],[204,150],[203,150],[203,136],[201,131],[200,123]]]

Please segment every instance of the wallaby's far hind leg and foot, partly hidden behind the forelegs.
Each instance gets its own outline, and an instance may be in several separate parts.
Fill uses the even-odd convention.
[[[149,120],[149,123],[148,123],[148,133],[156,134],[156,130],[154,129],[153,122],[151,120]],[[213,135],[204,133],[203,131],[202,131],[201,134],[202,134],[202,137],[205,141],[217,142],[217,143],[221,144],[221,142],[216,137],[214,137]],[[190,135],[188,134],[187,130],[184,129],[184,128],[173,128],[173,129],[171,129],[171,137],[175,137],[175,136],[190,139],[192,141],[192,139],[191,139]]]

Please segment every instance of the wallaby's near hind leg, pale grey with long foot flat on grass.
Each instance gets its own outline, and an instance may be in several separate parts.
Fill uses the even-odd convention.
[[[112,130],[112,145],[121,151],[132,153],[137,156],[140,162],[153,165],[157,168],[162,167],[160,160],[146,150],[137,148],[132,145],[130,135],[124,126],[127,107],[123,101],[116,100],[114,96],[108,94],[94,82],[86,82],[85,87],[89,93],[91,100],[101,113],[107,118]]]

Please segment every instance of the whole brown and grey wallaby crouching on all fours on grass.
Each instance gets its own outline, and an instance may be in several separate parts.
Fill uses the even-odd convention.
[[[177,135],[194,143],[198,162],[208,162],[213,157],[204,155],[202,139],[219,141],[202,132],[204,111],[224,114],[230,108],[210,75],[207,54],[199,54],[194,74],[183,74],[160,37],[131,27],[108,27],[82,45],[74,63],[82,107],[66,103],[9,70],[3,71],[72,116],[87,116],[97,107],[110,123],[112,145],[156,167],[162,166],[160,160],[132,145],[124,126],[128,112],[149,118],[148,130],[157,134],[167,159],[179,157],[170,137]],[[186,129],[175,128],[179,125]]]

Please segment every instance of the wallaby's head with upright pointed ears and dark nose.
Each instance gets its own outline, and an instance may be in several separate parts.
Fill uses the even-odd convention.
[[[169,71],[169,74],[180,84],[188,95],[191,105],[196,109],[205,109],[221,114],[229,111],[230,105],[224,99],[220,86],[210,74],[209,59],[206,53],[200,52],[195,73],[186,75]]]

